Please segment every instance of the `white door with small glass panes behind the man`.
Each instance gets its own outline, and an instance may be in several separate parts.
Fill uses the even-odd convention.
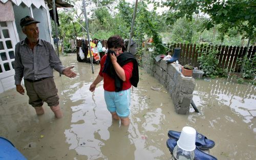
[[[0,93],[15,87],[14,50],[17,39],[12,21],[0,21]]]

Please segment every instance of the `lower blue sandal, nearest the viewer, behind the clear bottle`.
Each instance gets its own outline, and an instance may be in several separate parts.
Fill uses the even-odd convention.
[[[178,140],[175,140],[175,139],[168,139],[166,141],[166,145],[170,153],[172,154],[174,151],[174,147],[177,145],[177,141]],[[216,157],[201,151],[198,147],[196,147],[196,149],[194,150],[194,153],[195,153],[194,160],[218,160]]]

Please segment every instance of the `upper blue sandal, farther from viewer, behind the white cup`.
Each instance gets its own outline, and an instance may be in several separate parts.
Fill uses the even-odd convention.
[[[179,140],[180,133],[181,132],[174,131],[174,130],[169,130],[168,131],[168,136],[169,136],[169,138]],[[215,142],[212,141],[212,140],[207,139],[206,136],[197,132],[197,134],[196,134],[196,146],[199,149],[210,149],[210,148],[215,146]]]

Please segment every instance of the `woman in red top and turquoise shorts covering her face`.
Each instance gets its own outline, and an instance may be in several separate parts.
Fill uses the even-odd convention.
[[[130,124],[131,86],[139,82],[138,63],[129,52],[122,52],[123,39],[119,35],[108,39],[108,53],[101,58],[100,71],[90,85],[94,92],[96,85],[103,80],[104,99],[114,120]]]

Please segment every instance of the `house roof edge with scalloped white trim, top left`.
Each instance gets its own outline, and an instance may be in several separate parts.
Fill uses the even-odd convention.
[[[23,2],[28,7],[30,7],[33,4],[36,8],[40,8],[41,6],[46,8],[47,4],[49,8],[52,8],[52,0],[0,0],[0,2],[2,3],[6,3],[8,1],[11,1],[13,4],[17,6],[19,6]],[[55,0],[55,6],[58,8],[74,7],[73,5],[68,4],[62,0]]]

